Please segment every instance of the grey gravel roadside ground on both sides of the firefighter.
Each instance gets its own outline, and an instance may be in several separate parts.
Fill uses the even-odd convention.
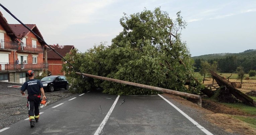
[[[10,86],[22,86],[22,84],[0,82],[0,129],[28,118],[27,94],[22,96],[20,88]],[[45,92],[45,95],[50,105],[73,94],[61,89],[51,93]]]

